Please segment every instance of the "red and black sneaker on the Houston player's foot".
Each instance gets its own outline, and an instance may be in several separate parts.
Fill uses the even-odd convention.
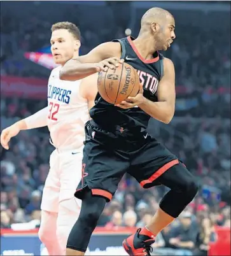
[[[155,242],[155,236],[146,229],[137,229],[136,233],[123,240],[123,248],[129,255],[151,255],[151,245]]]

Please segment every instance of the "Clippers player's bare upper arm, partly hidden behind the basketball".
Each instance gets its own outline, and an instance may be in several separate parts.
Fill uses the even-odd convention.
[[[95,105],[95,96],[97,94],[98,73],[83,78],[80,83],[80,95],[88,101],[88,109]]]

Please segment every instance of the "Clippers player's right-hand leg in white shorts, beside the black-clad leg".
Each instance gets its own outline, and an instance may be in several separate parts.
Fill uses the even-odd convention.
[[[80,215],[81,200],[74,197],[76,184],[81,181],[82,148],[60,153],[60,194],[59,215],[57,218],[57,239],[66,255],[67,238],[78,216]]]

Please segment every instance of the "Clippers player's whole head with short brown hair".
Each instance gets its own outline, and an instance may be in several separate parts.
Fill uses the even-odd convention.
[[[80,30],[71,22],[58,22],[52,25],[50,38],[53,59],[64,65],[67,60],[78,55],[80,49]]]

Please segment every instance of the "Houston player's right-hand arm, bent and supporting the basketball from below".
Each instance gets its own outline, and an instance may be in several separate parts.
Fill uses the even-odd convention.
[[[141,85],[136,97],[128,97],[122,103],[117,104],[120,108],[133,108],[139,106],[151,117],[169,124],[175,111],[176,90],[175,90],[175,70],[172,60],[164,58],[164,75],[157,88],[158,102],[150,101],[143,96],[143,86]]]

